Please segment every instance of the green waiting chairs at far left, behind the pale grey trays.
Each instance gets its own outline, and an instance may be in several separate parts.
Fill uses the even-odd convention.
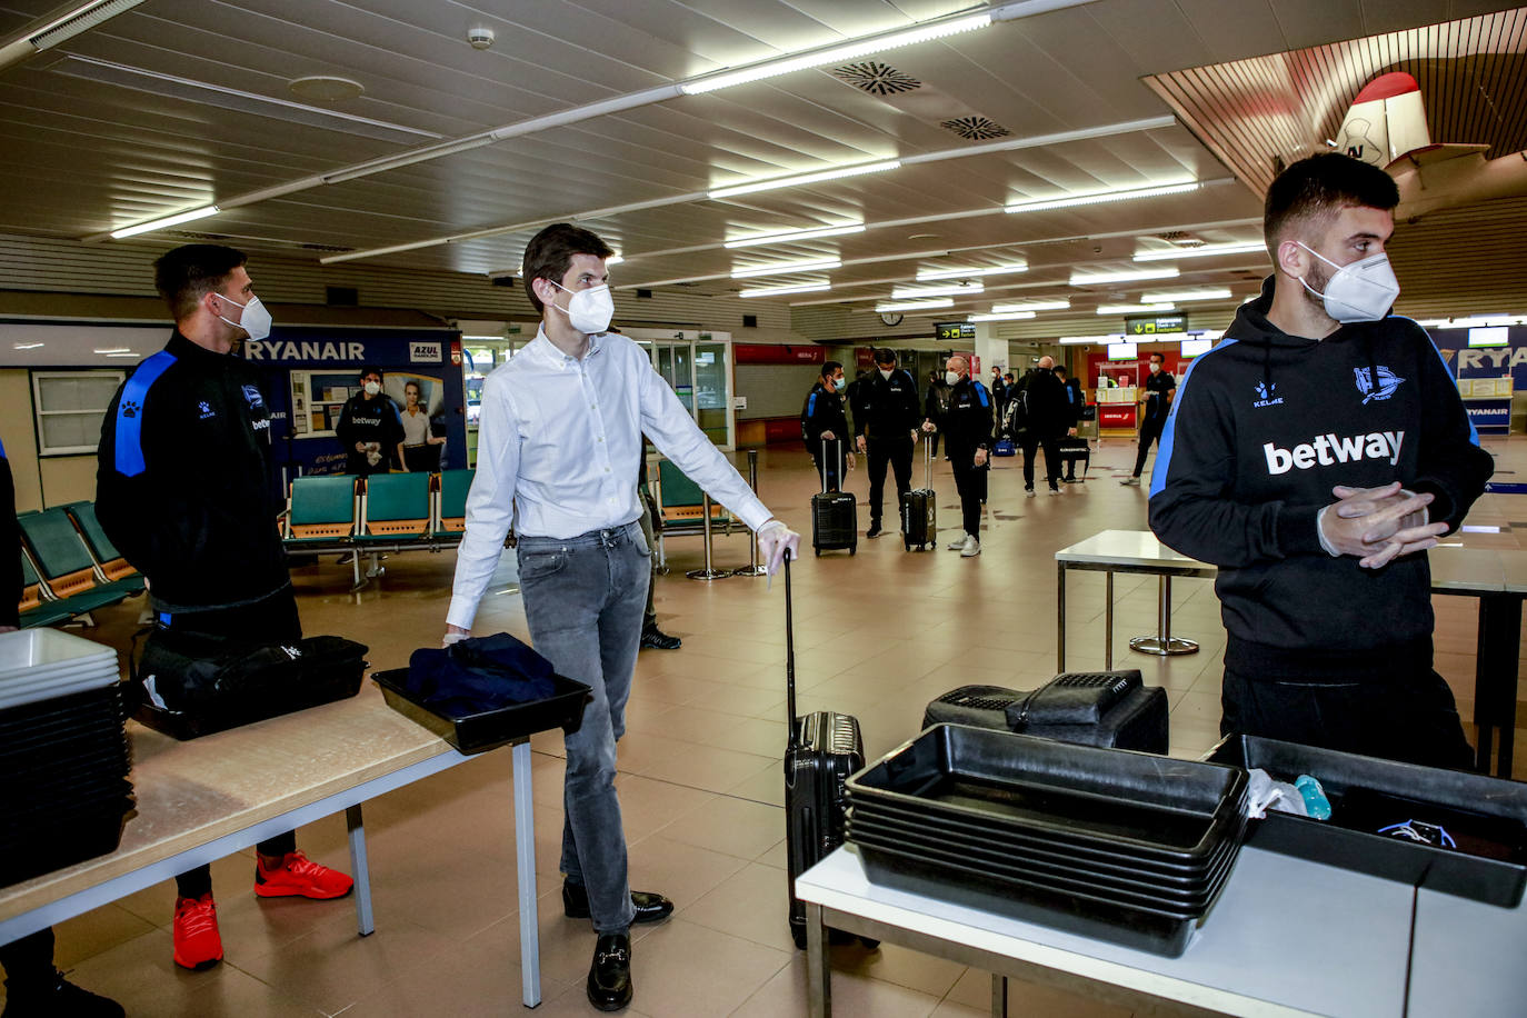
[[[21,528],[21,627],[55,626],[144,592],[93,502],[17,513]]]

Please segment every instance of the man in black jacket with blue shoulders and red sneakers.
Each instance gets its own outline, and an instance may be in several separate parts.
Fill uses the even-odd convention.
[[[96,516],[148,578],[156,627],[215,638],[302,638],[286,549],[284,508],[267,481],[270,412],[260,375],[232,356],[270,334],[244,255],[177,247],[154,263],[176,331],[111,398],[101,426]],[[293,833],[255,846],[260,897],[342,897],[351,879],[296,850]],[[176,965],[223,958],[206,865],[176,878]]]

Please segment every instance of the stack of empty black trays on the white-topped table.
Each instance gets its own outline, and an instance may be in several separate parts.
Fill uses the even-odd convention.
[[[849,778],[869,878],[1177,957],[1246,830],[1246,772],[935,725]]]

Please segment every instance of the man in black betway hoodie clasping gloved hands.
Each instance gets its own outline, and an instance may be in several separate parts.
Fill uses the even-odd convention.
[[[1397,203],[1336,153],[1274,180],[1274,273],[1177,388],[1150,525],[1219,566],[1223,733],[1467,768],[1425,552],[1493,464],[1431,337],[1391,314]]]

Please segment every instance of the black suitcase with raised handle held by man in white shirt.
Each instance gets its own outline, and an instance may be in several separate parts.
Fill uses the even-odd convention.
[[[858,719],[832,711],[796,717],[796,636],[789,600],[789,552],[785,552],[785,855],[789,871],[789,934],[806,946],[806,905],[796,897],[796,878],[843,844],[847,804],[844,781],[864,769]],[[840,934],[841,936],[841,934]],[[875,946],[875,940],[864,940]]]

